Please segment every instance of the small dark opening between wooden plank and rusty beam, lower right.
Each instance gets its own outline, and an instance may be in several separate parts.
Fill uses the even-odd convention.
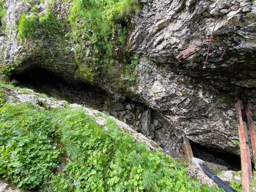
[[[193,155],[201,160],[226,166],[228,170],[240,171],[241,158],[238,155],[220,149],[207,148],[189,140]]]

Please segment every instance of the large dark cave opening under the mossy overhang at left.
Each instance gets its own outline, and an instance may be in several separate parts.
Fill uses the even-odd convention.
[[[105,90],[90,84],[63,79],[41,67],[13,74],[11,79],[15,79],[20,87],[30,88],[58,100],[67,100],[96,110],[99,110],[109,98]]]

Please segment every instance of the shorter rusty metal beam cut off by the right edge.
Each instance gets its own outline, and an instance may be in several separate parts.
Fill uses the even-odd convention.
[[[246,114],[247,114],[247,121],[249,125],[249,131],[250,131],[250,139],[252,142],[252,147],[253,147],[253,157],[254,157],[254,162],[256,161],[256,121],[254,118],[253,114],[253,108],[250,103],[247,103],[245,106]]]

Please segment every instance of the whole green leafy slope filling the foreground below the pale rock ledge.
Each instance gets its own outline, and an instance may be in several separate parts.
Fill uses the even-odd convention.
[[[56,192],[216,191],[200,188],[172,157],[150,151],[105,118],[102,128],[83,109],[4,104],[0,177],[23,189]]]

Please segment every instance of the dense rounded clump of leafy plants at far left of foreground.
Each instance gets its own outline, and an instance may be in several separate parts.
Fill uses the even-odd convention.
[[[47,180],[60,153],[52,146],[55,124],[31,104],[0,109],[0,176],[17,187],[33,189]]]

